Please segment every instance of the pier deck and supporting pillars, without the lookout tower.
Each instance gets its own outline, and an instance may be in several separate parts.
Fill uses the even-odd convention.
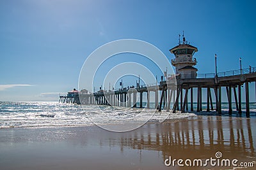
[[[189,78],[188,78],[189,77]],[[154,106],[158,111],[172,111],[176,113],[177,110],[181,112],[188,110],[188,95],[190,93],[190,111],[202,111],[202,89],[207,89],[207,108],[206,111],[217,111],[220,115],[221,111],[221,96],[227,95],[228,99],[228,113],[232,114],[232,93],[236,103],[236,110],[239,114],[242,113],[242,98],[241,87],[245,86],[245,101],[246,101],[246,117],[250,117],[250,98],[248,83],[256,81],[256,67],[248,69],[227,71],[215,74],[197,74],[196,78],[191,78],[189,75],[176,76],[176,81],[167,80],[161,81],[155,85],[142,85],[137,88],[120,89],[115,91],[104,91],[93,94],[79,94],[79,97],[68,98],[67,96],[60,96],[62,103],[77,103],[77,104],[102,104],[110,106],[124,106],[143,108],[143,93],[147,93],[147,108],[150,108],[150,93],[155,93]],[[173,88],[174,87],[174,88]],[[226,92],[222,91],[224,87]],[[197,90],[197,94],[193,93],[193,89]],[[212,91],[214,92],[212,95]],[[159,95],[160,99],[159,99]],[[224,94],[223,94],[224,93]],[[237,95],[238,94],[238,95]],[[140,96],[138,102],[137,95]],[[197,100],[193,101],[193,96],[196,95]],[[212,103],[212,97],[215,97],[216,104]],[[196,108],[193,104],[196,103]],[[170,108],[172,106],[172,109]]]

